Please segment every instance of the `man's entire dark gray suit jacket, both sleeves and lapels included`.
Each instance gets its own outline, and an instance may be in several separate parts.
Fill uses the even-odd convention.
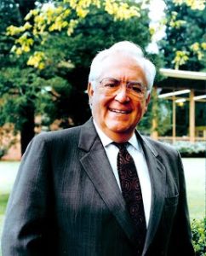
[[[194,255],[180,155],[136,135],[152,183],[144,256]],[[92,119],[35,137],[9,198],[3,256],[135,256],[134,228]]]

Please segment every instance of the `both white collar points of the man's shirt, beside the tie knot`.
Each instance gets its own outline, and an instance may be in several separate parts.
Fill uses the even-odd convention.
[[[93,119],[93,122],[94,122],[95,129],[100,137],[100,141],[103,144],[103,146],[106,147],[109,144],[113,143],[112,139],[107,137],[106,134],[100,130],[100,127],[96,124],[94,119]],[[137,137],[135,136],[135,133],[133,134],[132,137],[130,137],[129,144],[132,145],[136,150],[140,151],[140,146],[139,146]]]

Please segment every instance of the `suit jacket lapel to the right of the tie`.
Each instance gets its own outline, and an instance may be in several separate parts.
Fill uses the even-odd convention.
[[[140,137],[139,134],[138,137]],[[152,185],[152,205],[150,220],[146,233],[146,243],[143,251],[143,255],[145,255],[156,234],[157,227],[163,213],[163,203],[166,187],[166,172],[165,167],[163,166],[161,161],[158,160],[157,151],[152,148],[152,145],[145,138],[142,137],[140,137],[140,142],[145,153],[146,163],[150,173]]]

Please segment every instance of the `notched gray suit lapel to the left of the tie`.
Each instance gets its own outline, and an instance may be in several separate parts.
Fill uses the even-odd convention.
[[[134,228],[129,213],[92,119],[82,126],[79,148],[85,151],[80,160],[83,169],[87,172],[92,183],[94,183],[95,189],[102,200],[105,201],[106,206],[115,216],[129,240],[135,243]]]

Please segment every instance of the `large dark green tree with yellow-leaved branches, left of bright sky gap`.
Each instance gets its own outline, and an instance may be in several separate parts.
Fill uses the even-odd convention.
[[[90,61],[98,50],[119,40],[146,47],[150,41],[147,13],[132,1],[65,0],[38,4],[26,15],[25,24],[9,26],[13,66],[2,68],[0,77],[2,125],[15,123],[23,137],[28,133],[22,126],[29,120],[28,109],[32,121],[34,113],[42,113],[44,125],[55,119],[62,127],[82,124],[90,114],[84,92]]]

